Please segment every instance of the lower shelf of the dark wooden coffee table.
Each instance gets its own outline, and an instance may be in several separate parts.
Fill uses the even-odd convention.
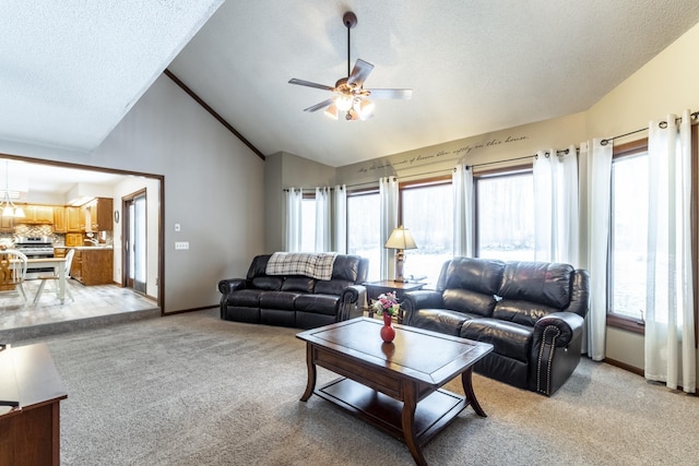
[[[402,402],[346,378],[336,379],[313,393],[405,442]],[[415,409],[417,443],[420,446],[427,443],[469,405],[465,397],[443,389],[422,399]]]

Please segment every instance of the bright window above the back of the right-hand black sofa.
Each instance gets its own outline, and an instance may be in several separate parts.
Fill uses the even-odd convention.
[[[533,261],[534,176],[531,170],[481,175],[476,191],[476,256]]]

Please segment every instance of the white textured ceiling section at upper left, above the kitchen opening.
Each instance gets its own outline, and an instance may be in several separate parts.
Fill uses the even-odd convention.
[[[95,148],[223,0],[0,2],[0,139]]]

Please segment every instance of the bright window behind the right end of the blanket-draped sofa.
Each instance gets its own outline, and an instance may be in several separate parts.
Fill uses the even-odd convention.
[[[381,231],[377,225],[381,207],[379,192],[347,193],[347,253],[369,260],[367,280],[381,278]]]

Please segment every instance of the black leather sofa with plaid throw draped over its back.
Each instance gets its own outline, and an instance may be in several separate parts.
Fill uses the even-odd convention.
[[[252,260],[246,278],[218,282],[221,319],[313,328],[363,314],[368,259],[337,254],[330,279],[305,275],[268,275],[271,254]]]

